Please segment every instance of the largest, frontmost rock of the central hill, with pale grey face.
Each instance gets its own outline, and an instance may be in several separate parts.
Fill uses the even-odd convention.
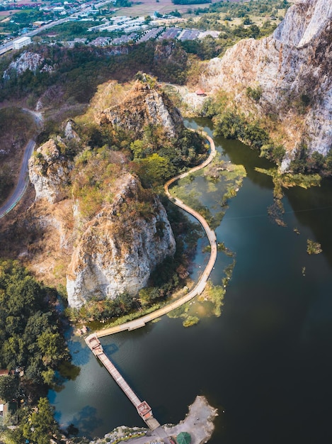
[[[147,204],[143,194],[139,180],[126,173],[113,203],[84,227],[67,274],[70,306],[137,294],[156,265],[175,252],[164,206],[156,196]]]

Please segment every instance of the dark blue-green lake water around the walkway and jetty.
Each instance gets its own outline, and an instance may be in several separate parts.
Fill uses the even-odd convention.
[[[212,135],[207,119],[185,123]],[[286,190],[287,226],[278,226],[268,216],[272,180],[254,170],[272,165],[238,141],[214,141],[224,159],[247,172],[216,229],[217,240],[236,253],[222,315],[202,313],[190,328],[164,316],[101,343],[160,423],[183,419],[202,394],[219,409],[211,444],[331,443],[332,182]],[[218,211],[218,189],[205,193],[204,177],[193,187],[196,181],[201,203]],[[307,254],[308,238],[321,243],[321,254]],[[198,245],[194,276],[207,261],[206,244]],[[214,284],[221,284],[225,263],[219,252]],[[69,348],[81,372],[49,394],[59,423],[74,423],[90,438],[120,425],[143,427],[84,340],[71,336]]]

